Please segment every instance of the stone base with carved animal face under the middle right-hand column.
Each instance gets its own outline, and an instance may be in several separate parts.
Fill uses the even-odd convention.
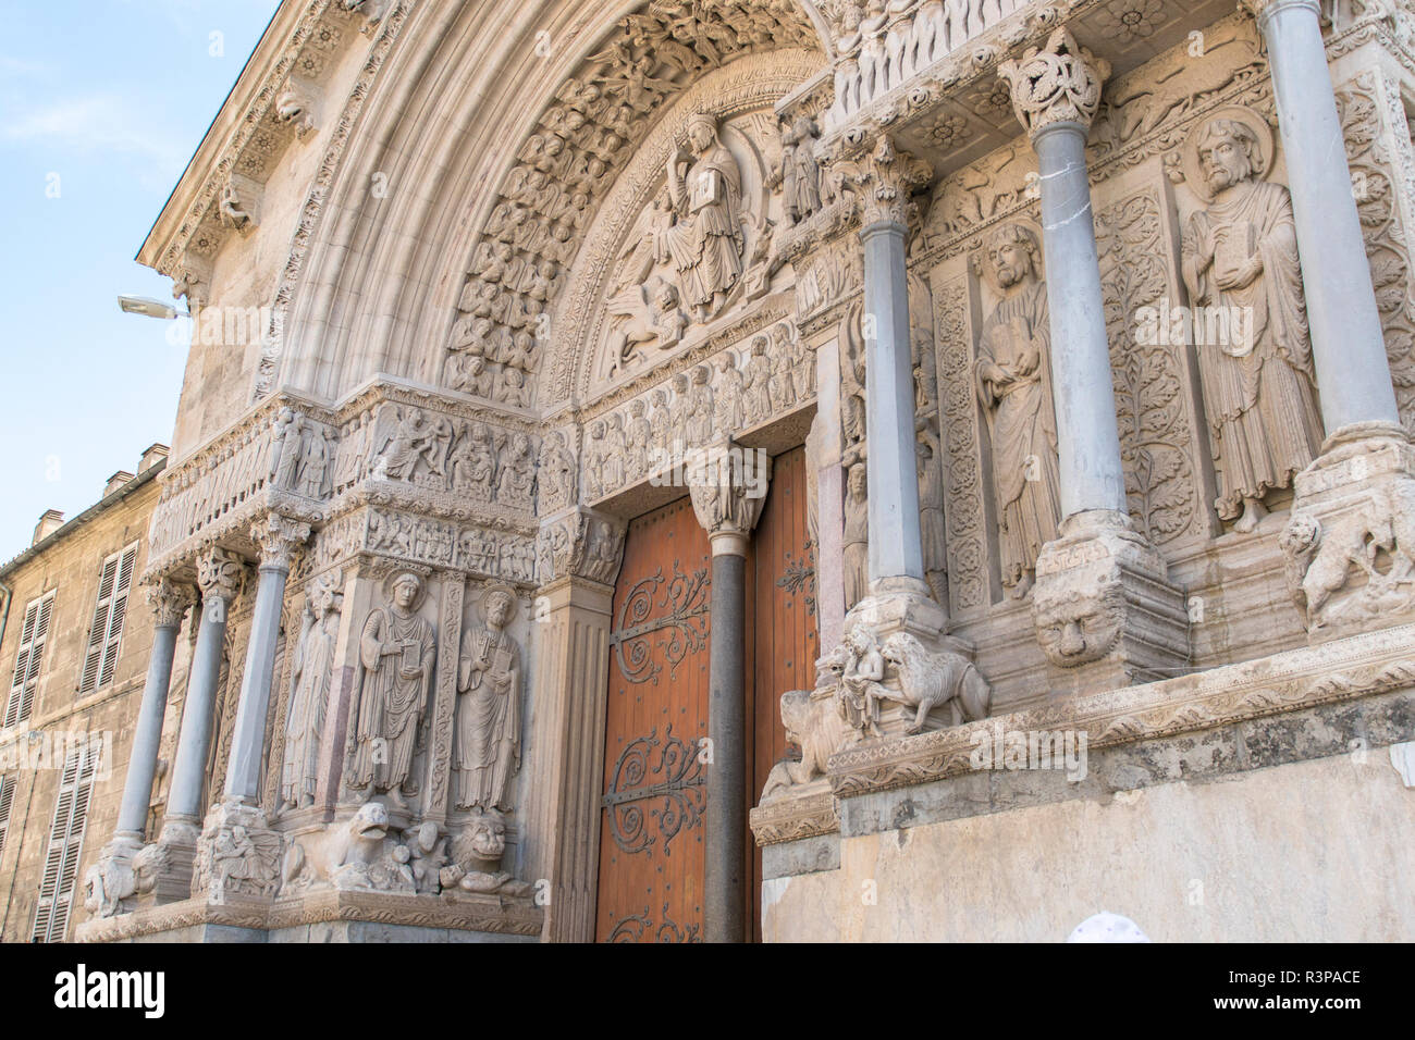
[[[1080,693],[1170,679],[1189,671],[1189,611],[1159,552],[1131,518],[1068,516],[1037,557],[1032,593],[1053,692]]]

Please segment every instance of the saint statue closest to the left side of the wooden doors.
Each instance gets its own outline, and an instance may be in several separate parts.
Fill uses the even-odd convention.
[[[521,768],[521,648],[505,631],[516,599],[492,589],[485,627],[468,630],[457,664],[458,809],[511,809],[509,781]]]

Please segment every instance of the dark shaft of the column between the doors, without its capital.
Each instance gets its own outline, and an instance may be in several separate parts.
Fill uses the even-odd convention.
[[[708,658],[706,903],[709,942],[741,942],[747,927],[743,866],[747,853],[747,709],[743,688],[746,642],[746,545],[712,557],[712,645]],[[737,549],[740,548],[740,555]]]

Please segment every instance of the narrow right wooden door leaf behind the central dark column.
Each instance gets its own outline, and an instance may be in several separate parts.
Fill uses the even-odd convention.
[[[815,546],[807,529],[805,449],[777,456],[771,491],[747,560],[749,808],[771,767],[797,753],[781,724],[781,695],[815,686],[821,657],[815,611]],[[751,938],[761,941],[761,849],[749,835]]]

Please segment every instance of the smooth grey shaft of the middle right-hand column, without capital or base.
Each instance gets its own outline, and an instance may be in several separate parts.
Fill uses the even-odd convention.
[[[1124,514],[1128,511],[1125,471],[1115,423],[1091,183],[1085,173],[1085,127],[1074,122],[1050,123],[1033,134],[1033,146],[1046,232],[1061,516],[1088,509]]]

